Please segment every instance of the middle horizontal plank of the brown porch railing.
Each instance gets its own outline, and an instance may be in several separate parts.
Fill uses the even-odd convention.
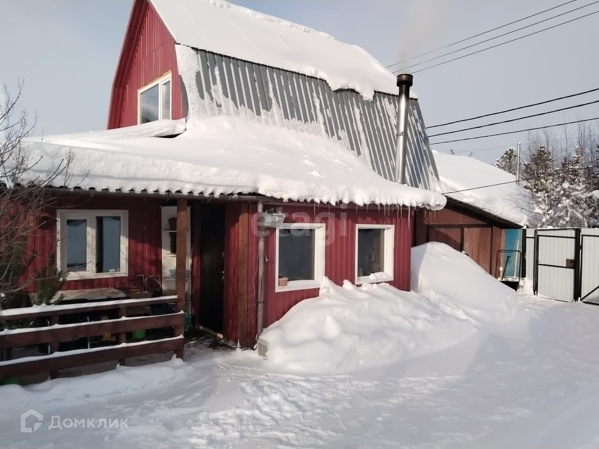
[[[56,327],[34,327],[23,332],[0,332],[0,348],[14,348],[47,342],[69,341],[104,333],[131,332],[135,329],[156,329],[158,327],[183,326],[185,315],[174,313],[150,317],[127,318],[125,320],[90,321],[76,325],[65,324]]]

